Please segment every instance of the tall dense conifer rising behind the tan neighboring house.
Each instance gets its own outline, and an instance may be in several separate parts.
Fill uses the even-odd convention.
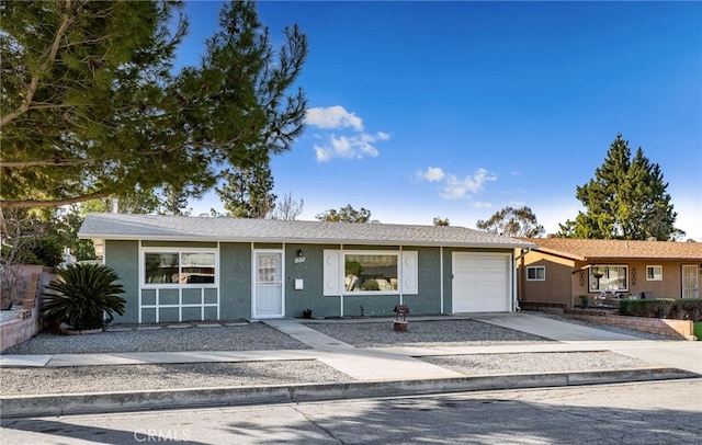
[[[650,163],[641,147],[631,159],[629,141],[616,135],[595,178],[577,187],[576,197],[587,210],[561,225],[558,236],[668,240],[677,214],[667,187],[660,167]]]

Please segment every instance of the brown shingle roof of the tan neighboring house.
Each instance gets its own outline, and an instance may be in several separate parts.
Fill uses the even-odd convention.
[[[523,239],[523,238],[522,238]],[[574,260],[639,259],[702,261],[702,242],[531,238],[536,250]]]

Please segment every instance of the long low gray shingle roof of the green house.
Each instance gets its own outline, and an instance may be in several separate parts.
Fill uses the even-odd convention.
[[[408,226],[211,218],[162,215],[89,214],[78,236],[112,240],[348,243],[534,248],[526,240],[456,226]]]

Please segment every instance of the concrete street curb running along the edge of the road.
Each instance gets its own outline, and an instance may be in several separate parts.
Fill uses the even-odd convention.
[[[417,396],[519,388],[550,388],[699,377],[699,374],[676,368],[641,368],[573,373],[508,374],[441,379],[351,381],[342,384],[298,384],[161,389],[152,391],[9,396],[0,398],[0,412],[2,417],[7,419],[155,409]]]

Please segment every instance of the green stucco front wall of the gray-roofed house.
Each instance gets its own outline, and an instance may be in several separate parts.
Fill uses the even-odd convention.
[[[257,243],[222,242],[218,244],[218,283],[219,307],[205,307],[205,320],[238,320],[252,317],[252,248],[283,250],[284,275],[284,316],[287,318],[303,317],[306,309],[313,310],[313,317],[394,317],[395,305],[404,304],[409,307],[410,317],[421,315],[452,313],[452,254],[456,251],[477,251],[475,249],[451,249],[435,247],[404,246],[403,251],[416,251],[418,283],[417,294],[373,294],[373,295],[324,295],[324,251],[340,250],[339,244],[298,244],[298,243]],[[144,248],[216,248],[217,243],[181,243],[181,242],[143,242]],[[399,247],[375,246],[343,246],[343,250],[384,250],[399,251]],[[500,251],[485,249],[480,251]],[[503,252],[503,250],[501,250]],[[115,270],[120,283],[125,288],[124,298],[127,300],[123,317],[116,317],[115,322],[136,323],[139,320],[138,303],[138,265],[139,244],[137,241],[106,241],[105,263]],[[443,273],[442,273],[443,272]],[[303,283],[302,289],[295,289],[295,281]],[[442,286],[443,284],[443,286]],[[170,292],[170,290],[169,290]],[[206,289],[205,303],[216,301],[216,290]],[[443,292],[443,305],[442,305]],[[155,299],[154,289],[144,289],[144,304]],[[171,297],[168,292],[160,294],[162,301]],[[173,294],[173,295],[177,295]],[[195,294],[183,289],[183,303],[194,303]],[[170,300],[169,300],[170,301]],[[343,310],[341,308],[343,305]],[[172,308],[165,308],[159,312],[159,321],[178,321],[179,312]],[[180,317],[183,319],[200,319],[200,309],[182,308]],[[144,309],[143,322],[155,321],[154,309]]]

